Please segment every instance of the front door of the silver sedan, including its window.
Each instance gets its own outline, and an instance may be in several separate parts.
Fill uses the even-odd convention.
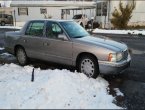
[[[59,36],[63,36],[64,39]],[[44,40],[46,58],[56,63],[72,65],[72,42],[56,22],[48,21]]]

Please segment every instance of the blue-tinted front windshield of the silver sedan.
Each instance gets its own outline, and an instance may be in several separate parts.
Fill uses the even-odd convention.
[[[73,21],[60,22],[70,38],[82,38],[88,36],[89,33],[78,23]]]

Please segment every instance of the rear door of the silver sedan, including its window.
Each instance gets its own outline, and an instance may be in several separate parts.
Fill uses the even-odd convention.
[[[44,21],[32,21],[28,24],[25,35],[20,39],[28,57],[43,58]]]

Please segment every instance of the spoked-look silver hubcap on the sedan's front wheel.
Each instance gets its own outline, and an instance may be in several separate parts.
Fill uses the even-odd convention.
[[[88,77],[92,77],[94,74],[95,68],[94,63],[90,59],[84,59],[81,62],[81,72],[85,73]]]

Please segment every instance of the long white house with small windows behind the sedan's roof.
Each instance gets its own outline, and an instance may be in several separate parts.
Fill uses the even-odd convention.
[[[13,15],[17,24],[31,19],[72,19],[75,14],[96,14],[95,2],[85,1],[12,1]],[[19,25],[23,25],[19,24]]]

